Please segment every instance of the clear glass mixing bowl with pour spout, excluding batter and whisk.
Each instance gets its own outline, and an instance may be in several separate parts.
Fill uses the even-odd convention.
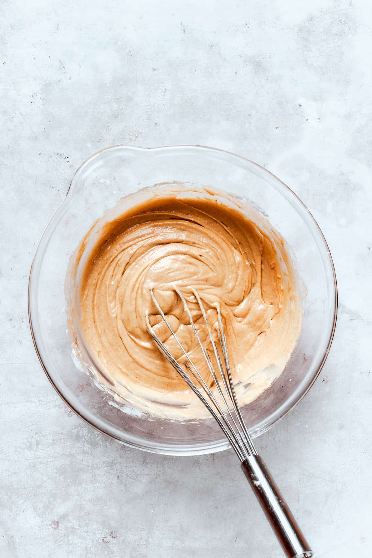
[[[228,448],[214,419],[171,421],[128,414],[84,373],[67,333],[64,284],[71,253],[93,222],[123,196],[162,182],[211,186],[249,201],[287,240],[303,282],[301,335],[282,375],[243,407],[253,436],[268,430],[307,393],[334,335],[337,287],[323,234],[301,200],[269,171],[210,147],[109,147],[76,171],[33,259],[28,312],[42,367],[62,399],[88,424],[130,446],[171,455]]]

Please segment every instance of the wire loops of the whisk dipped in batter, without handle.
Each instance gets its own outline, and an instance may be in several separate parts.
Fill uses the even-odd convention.
[[[226,336],[224,332],[223,319],[221,316],[220,308],[218,305],[216,305],[217,321],[216,324],[212,324],[213,326],[216,326],[216,331],[218,333],[217,341],[212,335],[212,328],[209,320],[207,319],[207,313],[205,311],[205,307],[201,300],[201,297],[196,290],[192,290],[192,294],[195,297],[197,305],[200,307],[201,315],[204,320],[208,338],[213,350],[214,358],[213,356],[211,358],[209,351],[201,341],[200,335],[194,323],[194,319],[192,318],[190,308],[187,305],[185,296],[183,296],[181,291],[179,291],[177,288],[175,288],[175,292],[180,297],[186,314],[189,317],[190,325],[192,327],[194,335],[196,336],[202,356],[204,357],[207,368],[211,374],[211,377],[213,378],[215,389],[207,384],[203,376],[200,374],[200,371],[198,371],[198,369],[192,362],[190,355],[183,348],[180,340],[177,338],[177,334],[172,329],[170,321],[167,320],[167,316],[161,309],[161,306],[158,303],[156,296],[154,295],[154,292],[152,290],[150,291],[150,293],[154,305],[156,306],[162,320],[167,325],[167,328],[175,339],[178,347],[181,349],[181,357],[177,359],[173,357],[170,350],[168,350],[166,345],[156,335],[153,327],[149,322],[149,316],[147,315],[146,324],[148,333],[154,339],[160,352],[165,356],[168,362],[170,362],[172,367],[175,368],[178,374],[180,374],[181,378],[186,382],[187,386],[189,386],[195,393],[195,395],[199,397],[200,401],[205,405],[207,410],[218,422],[221,430],[224,432],[226,438],[229,440],[231,447],[234,449],[236,455],[238,455],[238,458],[243,462],[249,456],[257,455],[257,451],[255,450],[248,429],[244,424],[238,401],[236,400],[234,383],[231,376],[231,369],[228,359]]]

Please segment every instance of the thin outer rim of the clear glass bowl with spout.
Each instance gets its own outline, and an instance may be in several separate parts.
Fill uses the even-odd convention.
[[[35,337],[35,331],[34,331],[33,325],[32,325],[31,307],[30,307],[30,294],[31,294],[31,287],[32,287],[32,276],[33,276],[33,271],[34,271],[34,268],[35,268],[35,260],[36,260],[36,256],[38,254],[38,250],[40,248],[42,239],[44,238],[44,235],[45,235],[47,229],[49,229],[49,225],[52,223],[52,221],[56,217],[57,213],[61,209],[61,206],[65,203],[65,201],[67,199],[67,196],[70,193],[71,187],[73,187],[75,181],[78,179],[78,176],[84,170],[84,168],[86,166],[88,166],[88,164],[92,160],[94,160],[94,158],[99,157],[100,155],[102,155],[102,153],[104,153],[106,151],[118,150],[118,149],[120,149],[120,150],[123,150],[123,149],[124,150],[130,150],[132,152],[133,151],[134,152],[135,151],[143,152],[143,151],[162,151],[162,150],[169,150],[169,149],[175,149],[175,150],[180,149],[181,150],[181,149],[185,149],[185,148],[186,149],[190,148],[192,150],[197,150],[197,151],[200,150],[200,151],[216,152],[216,153],[228,155],[228,156],[231,156],[231,157],[234,157],[234,158],[238,158],[238,159],[244,161],[245,163],[249,163],[250,165],[253,165],[254,167],[257,167],[257,169],[259,169],[260,171],[263,171],[264,173],[273,177],[274,180],[279,182],[279,184],[281,184],[284,187],[284,191],[287,191],[290,196],[294,196],[294,198],[296,198],[297,202],[303,207],[303,209],[305,209],[307,211],[307,214],[310,216],[313,224],[315,224],[317,232],[320,233],[320,235],[321,235],[321,239],[322,239],[323,243],[325,244],[325,247],[327,249],[328,259],[329,259],[329,262],[331,264],[331,271],[332,271],[332,275],[333,275],[333,279],[334,279],[334,289],[335,289],[335,291],[334,291],[335,307],[334,307],[334,316],[333,316],[332,328],[331,328],[331,332],[330,332],[330,335],[329,335],[329,338],[328,338],[327,347],[325,349],[325,354],[324,354],[324,356],[321,360],[320,365],[318,365],[316,373],[314,374],[313,378],[311,379],[311,381],[308,384],[308,386],[306,387],[306,389],[299,395],[299,397],[296,399],[296,401],[292,402],[292,405],[290,405],[288,408],[284,409],[284,411],[281,412],[276,417],[276,419],[274,419],[269,425],[267,425],[267,427],[265,427],[264,430],[260,431],[258,435],[261,435],[264,432],[266,432],[267,430],[269,430],[270,428],[272,428],[279,421],[281,421],[290,411],[292,411],[292,409],[294,407],[296,407],[300,401],[302,401],[302,399],[306,396],[308,391],[310,391],[310,388],[315,383],[316,379],[318,378],[318,376],[319,376],[319,374],[320,374],[320,372],[323,368],[323,365],[326,362],[328,353],[329,353],[330,348],[331,348],[332,340],[334,338],[335,328],[336,328],[336,321],[337,321],[337,306],[338,306],[337,279],[336,279],[335,266],[334,266],[334,262],[333,262],[333,259],[332,259],[330,249],[328,247],[327,241],[325,239],[325,236],[322,233],[321,228],[319,227],[316,219],[313,217],[311,211],[308,210],[306,205],[297,196],[297,194],[294,193],[294,191],[289,186],[284,184],[284,182],[282,180],[278,179],[278,177],[276,175],[274,175],[268,169],[265,169],[265,167],[263,167],[261,165],[258,165],[258,163],[255,163],[254,161],[248,159],[247,157],[243,157],[241,155],[236,155],[235,153],[231,153],[230,151],[223,150],[223,149],[216,148],[216,147],[207,147],[207,146],[202,146],[202,145],[167,145],[167,146],[161,146],[161,147],[139,147],[139,146],[128,146],[128,145],[120,145],[119,144],[119,145],[105,147],[102,150],[99,150],[99,151],[93,153],[93,155],[91,155],[90,157],[86,158],[86,160],[83,163],[81,163],[81,165],[75,171],[74,176],[71,179],[69,188],[67,189],[67,192],[66,192],[66,195],[65,195],[64,199],[57,206],[56,210],[54,211],[51,218],[49,219],[49,222],[46,224],[46,227],[44,228],[44,230],[41,234],[40,240],[37,243],[37,246],[36,246],[36,249],[35,249],[35,254],[34,254],[33,259],[32,259],[31,268],[30,268],[30,276],[28,278],[27,306],[28,306],[28,321],[29,321],[29,324],[30,324],[33,346],[35,347],[35,351],[36,351],[37,357],[40,361],[41,367],[44,370],[44,372],[46,374],[46,377],[49,379],[49,382],[54,387],[55,391],[61,397],[62,401],[64,401],[65,405],[67,405],[67,407],[69,407],[71,409],[71,411],[73,411],[76,415],[78,415],[80,417],[80,419],[82,419],[84,422],[86,422],[86,424],[93,427],[95,430],[101,432],[102,434],[104,434],[106,436],[109,436],[113,440],[117,440],[121,444],[127,445],[129,447],[141,449],[141,450],[147,451],[149,453],[157,453],[157,454],[163,454],[163,455],[177,455],[177,456],[181,456],[181,455],[201,455],[201,454],[215,453],[215,452],[223,451],[225,449],[230,448],[230,444],[227,440],[224,440],[224,439],[217,440],[215,442],[209,442],[207,444],[194,444],[194,445],[190,444],[189,446],[185,446],[185,445],[182,445],[182,444],[174,444],[174,445],[169,446],[169,447],[165,446],[165,445],[161,445],[161,447],[160,447],[160,444],[157,444],[157,443],[154,443],[154,442],[149,442],[149,441],[147,441],[147,444],[149,444],[149,445],[144,445],[144,444],[139,444],[139,443],[135,444],[134,442],[129,441],[129,440],[124,441],[119,436],[115,436],[112,432],[108,432],[108,431],[100,428],[99,426],[96,426],[93,423],[93,421],[89,420],[88,417],[83,416],[82,413],[79,412],[72,405],[72,403],[70,403],[69,401],[66,400],[65,395],[56,386],[56,384],[54,383],[50,373],[47,370],[46,365],[44,364],[44,362],[42,360],[40,350],[38,349],[37,341],[36,341],[36,337]]]

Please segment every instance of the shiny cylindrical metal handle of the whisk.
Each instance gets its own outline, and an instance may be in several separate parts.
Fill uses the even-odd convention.
[[[287,557],[311,558],[310,546],[302,535],[263,459],[259,455],[252,455],[245,459],[240,466]]]

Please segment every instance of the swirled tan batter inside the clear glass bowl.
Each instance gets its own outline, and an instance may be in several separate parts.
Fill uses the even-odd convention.
[[[151,289],[209,384],[175,288],[190,302],[205,340],[192,290],[205,302],[211,325],[220,308],[241,404],[258,397],[283,371],[302,316],[296,275],[282,237],[231,196],[182,192],[180,187],[159,186],[157,196],[148,196],[108,223],[96,223],[94,246],[87,248],[89,232],[74,260],[76,275],[85,254],[74,327],[95,361],[100,382],[118,400],[173,419],[208,413],[148,334],[147,314],[157,335],[183,363]]]

